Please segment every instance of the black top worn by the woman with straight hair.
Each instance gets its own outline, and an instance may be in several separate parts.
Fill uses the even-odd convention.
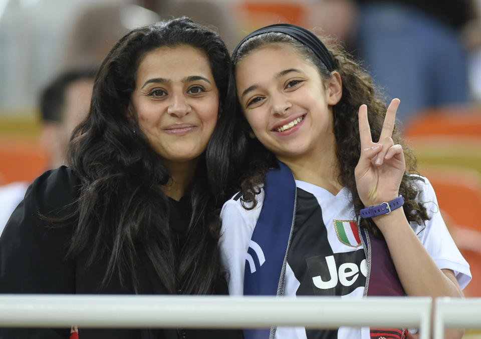
[[[49,228],[40,214],[62,217],[72,212],[72,203],[79,194],[80,180],[72,169],[62,166],[45,172],[27,190],[25,199],[13,212],[0,237],[0,293],[42,294],[134,294],[132,288],[111,279],[99,290],[107,259],[95,262],[87,269],[90,248],[75,259],[65,260],[66,246],[72,228]],[[185,201],[187,200],[187,201]],[[70,205],[69,205],[70,204]],[[179,244],[185,241],[190,208],[188,199],[171,200],[172,224]],[[187,206],[187,207],[186,207]],[[187,213],[186,213],[187,212]],[[140,294],[166,294],[146,253],[139,248],[138,269]],[[224,293],[225,284],[219,287]],[[0,338],[64,338],[70,328],[0,328]],[[177,339],[239,338],[237,331],[194,329],[88,329],[80,328],[82,339]]]

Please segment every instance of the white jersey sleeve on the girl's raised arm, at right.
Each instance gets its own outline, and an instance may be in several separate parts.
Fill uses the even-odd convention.
[[[431,219],[425,221],[426,227],[418,233],[418,237],[439,269],[453,270],[459,285],[464,288],[471,281],[469,264],[449,234],[431,183],[425,177],[421,179],[418,180],[421,190],[419,201],[424,203]]]

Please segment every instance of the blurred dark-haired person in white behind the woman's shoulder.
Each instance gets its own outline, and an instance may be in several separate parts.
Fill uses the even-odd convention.
[[[39,143],[48,159],[44,170],[67,165],[70,136],[89,111],[95,73],[94,67],[65,71],[41,93]],[[29,185],[29,181],[22,181],[0,186],[0,234]]]

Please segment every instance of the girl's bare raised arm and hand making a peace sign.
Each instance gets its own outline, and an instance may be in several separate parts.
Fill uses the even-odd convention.
[[[405,172],[401,145],[391,138],[399,100],[389,105],[379,141],[371,138],[367,107],[359,109],[361,156],[355,169],[359,196],[366,207],[398,197]],[[462,297],[461,287],[451,269],[439,269],[414,233],[402,208],[373,218],[382,232],[399,279],[407,295]],[[445,227],[444,225],[442,225]],[[441,244],[440,244],[441,245]],[[450,331],[446,337],[461,337],[463,331]]]

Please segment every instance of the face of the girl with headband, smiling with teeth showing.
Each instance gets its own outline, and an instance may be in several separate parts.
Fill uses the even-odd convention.
[[[240,105],[256,137],[279,160],[334,151],[330,105],[342,93],[337,76],[325,86],[317,68],[284,43],[254,50],[237,64]]]

